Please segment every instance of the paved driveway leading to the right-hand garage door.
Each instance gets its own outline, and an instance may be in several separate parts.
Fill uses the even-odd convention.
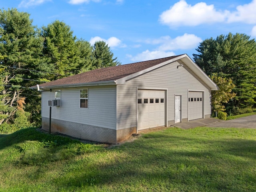
[[[171,126],[182,129],[189,129],[200,126],[222,128],[256,128],[256,115],[241,117],[228,121],[214,118],[197,119],[189,122],[172,124]]]

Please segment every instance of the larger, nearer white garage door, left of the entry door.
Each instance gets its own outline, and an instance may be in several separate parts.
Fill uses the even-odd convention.
[[[165,125],[165,91],[138,90],[138,130]]]

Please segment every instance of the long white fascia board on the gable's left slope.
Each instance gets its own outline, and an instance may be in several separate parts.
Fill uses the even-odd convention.
[[[176,57],[176,58],[173,58],[173,59],[170,59],[170,60],[168,60],[168,61],[162,62],[162,63],[160,63],[160,64],[154,65],[154,66],[152,66],[152,67],[150,67],[150,68],[146,68],[146,69],[144,69],[144,70],[142,70],[142,71],[136,72],[136,73],[134,73],[134,74],[130,74],[130,75],[128,75],[128,76],[125,76],[125,77],[123,77],[123,78],[120,78],[120,79],[116,80],[116,84],[125,84],[126,81],[128,81],[128,80],[130,80],[130,79],[132,79],[132,78],[135,78],[135,77],[137,77],[137,76],[143,75],[143,74],[145,74],[145,73],[147,73],[147,72],[150,72],[150,71],[152,71],[152,70],[155,70],[155,69],[157,69],[157,68],[159,68],[159,67],[162,67],[162,66],[164,66],[164,65],[167,65],[167,64],[176,62],[177,60],[179,60],[179,59],[181,59],[181,58],[184,58],[184,57],[186,57],[186,56],[187,56],[186,54],[183,54],[183,55],[180,55],[180,56],[178,56],[178,57]]]

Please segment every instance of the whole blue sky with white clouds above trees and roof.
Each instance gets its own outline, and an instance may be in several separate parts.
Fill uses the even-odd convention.
[[[42,27],[60,20],[77,38],[104,40],[122,64],[188,54],[229,32],[256,37],[256,0],[0,0]]]

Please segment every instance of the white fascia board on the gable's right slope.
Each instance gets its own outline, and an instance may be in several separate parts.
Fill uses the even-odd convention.
[[[181,59],[182,62],[186,64],[200,79],[202,79],[210,88],[211,90],[220,90],[220,88],[208,77],[205,72],[195,64],[189,56],[186,56]]]

